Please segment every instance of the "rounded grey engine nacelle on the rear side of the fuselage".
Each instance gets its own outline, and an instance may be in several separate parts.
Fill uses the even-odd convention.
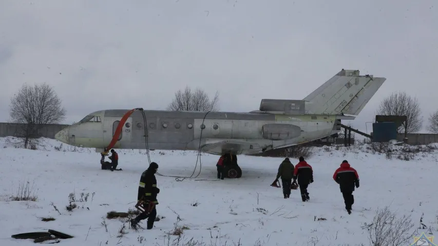
[[[301,128],[290,124],[266,124],[261,128],[264,139],[287,140],[301,135]]]

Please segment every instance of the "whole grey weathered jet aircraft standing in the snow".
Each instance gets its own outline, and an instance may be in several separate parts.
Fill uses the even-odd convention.
[[[96,111],[55,138],[72,146],[96,148],[96,152],[115,148],[261,153],[338,133],[340,121],[354,119],[385,80],[342,69],[302,100],[262,99],[259,110],[249,113]]]

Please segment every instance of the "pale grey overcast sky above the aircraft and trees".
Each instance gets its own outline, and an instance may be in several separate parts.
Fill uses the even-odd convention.
[[[221,111],[303,99],[344,69],[386,77],[352,122],[394,90],[438,109],[438,3],[422,1],[0,1],[0,121],[23,83],[48,83],[64,123],[102,109],[165,109],[220,93]],[[367,124],[370,132],[371,124]]]

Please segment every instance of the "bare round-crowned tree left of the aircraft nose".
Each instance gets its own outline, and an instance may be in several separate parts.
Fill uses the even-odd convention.
[[[46,124],[56,124],[65,119],[61,99],[47,84],[29,86],[24,84],[11,98],[10,117],[13,123],[22,125],[17,137],[29,141],[40,137],[40,129]]]

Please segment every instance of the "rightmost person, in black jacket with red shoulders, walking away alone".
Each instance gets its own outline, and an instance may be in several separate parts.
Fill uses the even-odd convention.
[[[350,166],[347,160],[344,160],[333,174],[333,179],[339,184],[340,192],[344,197],[345,209],[351,214],[351,206],[354,203],[354,187],[359,188],[357,171]]]

